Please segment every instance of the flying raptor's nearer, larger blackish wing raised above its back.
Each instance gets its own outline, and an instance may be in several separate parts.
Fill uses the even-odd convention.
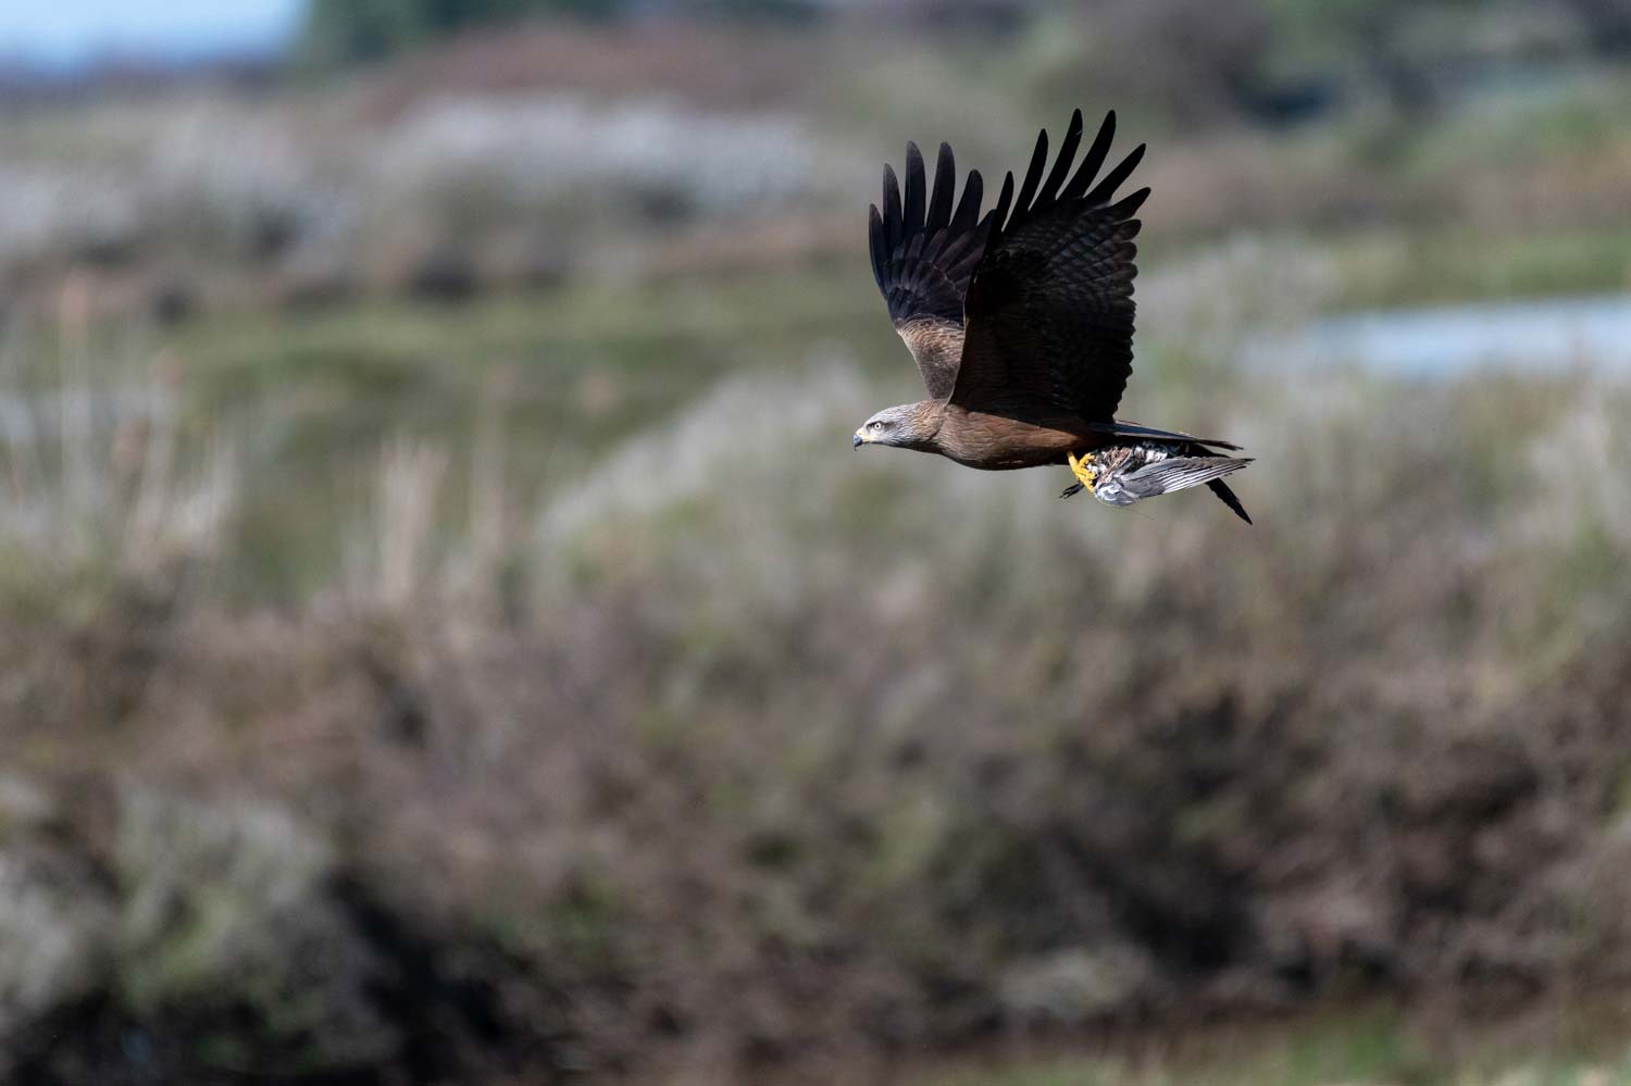
[[[1037,137],[1013,214],[1013,174],[1003,183],[964,305],[953,403],[990,414],[1057,411],[1093,422],[1114,419],[1132,373],[1138,253],[1138,220],[1132,215],[1150,194],[1138,189],[1112,202],[1143,157],[1138,145],[1098,176],[1114,134],[1111,113],[1070,174],[1081,143],[1078,109],[1045,179],[1047,132]]]

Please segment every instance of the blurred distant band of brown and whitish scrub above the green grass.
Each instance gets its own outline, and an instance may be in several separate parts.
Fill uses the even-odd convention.
[[[0,284],[49,313],[73,271],[98,310],[168,320],[845,259],[907,135],[998,173],[1080,103],[1153,140],[1156,254],[1318,232],[1380,261],[1367,300],[1378,279],[1419,300],[1624,284],[1631,77],[1607,13],[1184,5],[935,33],[891,5],[476,26],[282,90],[20,101],[0,122]],[[316,5],[308,34],[372,10]],[[1492,269],[1483,246],[1510,259]]]

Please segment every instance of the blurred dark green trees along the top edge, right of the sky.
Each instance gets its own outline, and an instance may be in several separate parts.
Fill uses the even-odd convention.
[[[868,5],[819,0],[313,0],[302,55],[334,67],[421,49],[483,26],[553,15],[589,20],[798,16],[842,21]],[[1011,44],[1060,24],[1088,29],[1094,78],[1142,82],[1179,119],[1244,113],[1269,122],[1329,116],[1380,96],[1421,114],[1491,70],[1592,51],[1631,52],[1631,5],[1571,0],[1548,8],[1487,0],[904,0],[884,7],[902,24],[977,26]],[[1065,55],[1055,54],[1055,62]],[[1045,70],[1047,65],[1044,65]],[[1166,75],[1151,80],[1148,68]],[[1143,68],[1143,70],[1140,70]],[[1072,78],[1063,70],[1062,78]]]

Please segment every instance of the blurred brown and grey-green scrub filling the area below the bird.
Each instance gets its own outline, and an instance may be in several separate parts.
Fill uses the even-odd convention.
[[[39,905],[0,923],[52,978],[13,1019],[15,1066],[96,1078],[134,1031],[171,1076],[752,1079],[1378,990],[1465,991],[1476,1021],[1613,985],[1631,388],[1231,372],[1323,259],[1147,282],[1166,320],[1132,406],[1261,457],[1249,532],[1210,502],[1111,517],[1049,473],[848,452],[912,382],[850,276],[569,294],[563,349],[471,359],[463,385],[427,369],[416,395],[444,411],[418,421],[388,382],[321,369],[369,321],[432,349],[481,326],[502,357],[514,303],[290,329],[289,359],[254,364],[281,390],[199,372],[199,395],[259,404],[199,416],[246,435],[240,486],[199,491],[214,439],[158,411],[173,437],[73,453],[129,504],[67,502],[11,543],[5,833],[11,900]],[[783,292],[820,328],[767,339],[750,302]],[[646,339],[698,313],[729,373]],[[267,334],[232,331],[176,342]],[[302,372],[303,338],[356,346]],[[584,416],[528,422],[532,398]],[[46,401],[34,429],[75,409]],[[1558,458],[1592,484],[1546,488]],[[329,497],[325,475],[351,483]],[[290,499],[251,515],[279,481]],[[144,535],[155,491],[215,514]],[[80,532],[106,545],[57,545]],[[261,535],[326,536],[328,574],[245,610],[220,587],[254,584]],[[1368,1029],[1233,1081],[1505,1066]],[[1063,1066],[1036,1081],[1085,1073]]]

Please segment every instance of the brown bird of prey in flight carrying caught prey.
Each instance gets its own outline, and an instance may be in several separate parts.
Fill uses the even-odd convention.
[[[1019,192],[1010,173],[983,215],[974,170],[953,207],[957,165],[946,143],[933,189],[913,143],[904,197],[884,166],[873,272],[928,400],[879,411],[855,447],[899,445],[988,471],[1067,465],[1076,483],[1062,497],[1086,489],[1111,505],[1205,483],[1251,523],[1223,483],[1251,460],[1217,452],[1238,445],[1116,417],[1132,373],[1134,215],[1150,189],[1116,199],[1142,143],[1099,176],[1114,135],[1111,113],[1072,174],[1078,109],[1047,176],[1044,130]]]

